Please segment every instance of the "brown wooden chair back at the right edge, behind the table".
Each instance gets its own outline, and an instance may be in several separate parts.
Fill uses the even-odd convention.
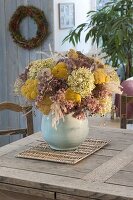
[[[129,116],[129,112],[132,115]],[[127,124],[133,122],[133,96],[120,95],[120,128],[127,128]]]

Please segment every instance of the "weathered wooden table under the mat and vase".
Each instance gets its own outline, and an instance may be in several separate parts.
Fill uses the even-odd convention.
[[[133,132],[92,127],[111,143],[75,165],[16,158],[41,140],[36,133],[0,148],[0,200],[133,199]]]

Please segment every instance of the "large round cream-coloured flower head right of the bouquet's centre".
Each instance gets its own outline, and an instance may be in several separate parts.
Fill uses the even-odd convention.
[[[80,94],[82,98],[91,94],[95,88],[93,73],[84,67],[73,70],[68,76],[68,85],[76,93]]]

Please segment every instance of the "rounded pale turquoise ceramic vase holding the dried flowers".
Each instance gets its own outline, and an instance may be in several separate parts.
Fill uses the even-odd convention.
[[[60,119],[57,128],[52,127],[51,115],[42,117],[41,131],[44,140],[55,150],[72,150],[77,148],[88,136],[88,118],[83,120],[68,114]]]

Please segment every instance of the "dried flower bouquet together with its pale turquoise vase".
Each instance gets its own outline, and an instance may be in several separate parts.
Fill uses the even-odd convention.
[[[14,90],[43,113],[41,130],[50,147],[68,150],[88,136],[88,116],[111,111],[120,81],[102,60],[70,49],[29,63]]]

